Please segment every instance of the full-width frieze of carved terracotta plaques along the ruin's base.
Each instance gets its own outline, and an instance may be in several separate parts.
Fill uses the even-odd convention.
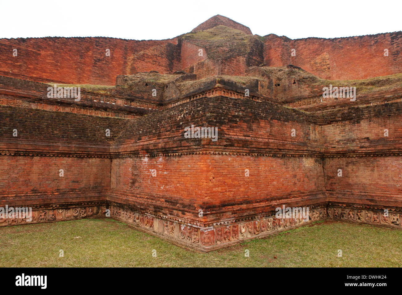
[[[22,207],[22,206],[18,206]],[[178,220],[174,216],[157,214],[129,205],[99,201],[56,205],[33,205],[32,220],[19,218],[0,218],[0,227],[21,224],[36,224],[77,220],[82,218],[104,218],[107,210],[110,217],[140,230],[170,240],[174,244],[193,248],[201,252],[216,250],[245,240],[263,238],[285,230],[306,226],[318,220],[340,220],[373,224],[402,229],[402,209],[392,208],[385,216],[384,210],[373,207],[346,205],[340,203],[320,203],[309,206],[309,220],[303,218],[276,218],[275,212],[249,216],[215,225]]]

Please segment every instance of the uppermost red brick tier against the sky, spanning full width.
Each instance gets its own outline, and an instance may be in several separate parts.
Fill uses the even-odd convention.
[[[214,16],[193,31],[218,25],[251,35],[248,27],[223,16]],[[0,39],[0,74],[35,81],[113,85],[119,74],[185,69],[202,79],[211,74],[244,75],[248,67],[265,63],[297,65],[325,79],[365,79],[402,71],[401,34],[295,40],[270,34],[263,42],[246,36],[245,51],[238,51],[238,40],[227,39],[216,57],[209,56],[205,46],[191,44],[195,40],[182,42],[181,36],[160,41],[103,37]],[[18,50],[18,56],[12,56],[13,49]],[[110,57],[105,55],[106,49],[111,50]],[[198,49],[203,49],[203,57],[198,56]],[[295,56],[291,56],[291,49],[296,50]],[[384,49],[388,49],[388,57]]]

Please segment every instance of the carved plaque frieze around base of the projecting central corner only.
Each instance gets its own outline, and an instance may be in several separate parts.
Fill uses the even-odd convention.
[[[326,207],[323,205],[311,206],[309,220],[303,218],[276,218],[275,213],[263,216],[254,216],[242,220],[233,220],[216,226],[195,226],[184,221],[177,221],[151,212],[139,210],[111,203],[111,217],[135,226],[151,234],[167,238],[175,244],[208,252],[245,240],[262,238],[304,226],[311,222],[326,219]]]

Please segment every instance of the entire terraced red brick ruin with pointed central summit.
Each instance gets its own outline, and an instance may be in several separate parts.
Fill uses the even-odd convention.
[[[0,207],[33,210],[0,226],[109,212],[201,251],[316,220],[402,228],[401,48],[402,32],[291,40],[219,15],[160,41],[0,39]]]

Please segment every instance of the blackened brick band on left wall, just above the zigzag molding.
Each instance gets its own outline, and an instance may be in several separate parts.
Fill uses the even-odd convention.
[[[86,143],[90,146],[109,148],[128,122],[120,118],[102,118],[82,114],[50,112],[28,108],[0,106],[2,128],[0,138],[9,143]],[[13,136],[13,129],[18,136]],[[105,130],[109,129],[110,136]],[[10,142],[10,140],[12,142]]]

